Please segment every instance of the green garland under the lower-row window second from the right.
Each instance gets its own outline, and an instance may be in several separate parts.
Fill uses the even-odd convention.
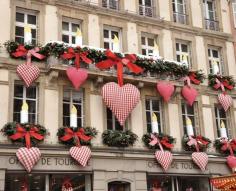
[[[194,139],[196,138],[200,138],[202,139],[203,141],[206,141],[207,142],[207,145],[204,145],[204,144],[201,144],[199,143],[198,146],[199,146],[199,151],[202,152],[202,151],[206,151],[206,149],[210,146],[211,144],[211,140],[206,138],[206,137],[203,137],[201,135],[199,136],[192,136]],[[189,146],[187,143],[189,142],[189,137],[187,135],[184,135],[183,136],[183,139],[182,139],[182,143],[183,143],[183,147],[184,147],[184,150],[185,151],[194,151],[196,152],[196,147],[195,145],[191,145]]]

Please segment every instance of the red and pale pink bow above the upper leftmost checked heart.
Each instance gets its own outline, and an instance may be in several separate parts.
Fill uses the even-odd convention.
[[[26,64],[31,64],[31,57],[34,56],[35,58],[38,58],[39,60],[42,60],[45,58],[44,55],[37,53],[40,49],[38,47],[35,47],[31,50],[27,50],[24,45],[18,45],[16,52],[12,53],[12,56],[18,58],[18,57],[26,57]]]

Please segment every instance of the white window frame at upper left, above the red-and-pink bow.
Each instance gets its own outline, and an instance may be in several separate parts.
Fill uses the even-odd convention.
[[[20,13],[20,14],[23,14],[24,15],[24,22],[19,22],[19,21],[16,21],[16,14],[17,13]],[[33,25],[33,24],[28,24],[28,15],[32,15],[32,16],[35,16],[36,17],[36,24]],[[31,30],[34,29],[36,31],[36,34],[35,34],[35,38],[32,38],[32,41],[35,40],[35,44],[37,44],[38,42],[38,14],[36,11],[33,11],[33,10],[25,10],[25,9],[16,9],[15,11],[15,33],[14,33],[14,39],[16,40],[16,38],[23,38],[24,39],[24,43],[25,43],[25,34],[24,36],[17,36],[16,35],[16,27],[21,27],[21,28],[25,28],[25,26],[30,26]],[[33,42],[32,42],[33,44]]]

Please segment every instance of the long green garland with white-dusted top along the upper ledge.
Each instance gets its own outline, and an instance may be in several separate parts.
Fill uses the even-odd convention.
[[[19,44],[14,41],[7,41],[5,44],[7,51],[9,52],[10,56],[12,57],[12,53],[16,52],[17,47]],[[27,50],[34,48],[33,45],[24,45]],[[40,48],[39,53],[44,55],[46,58],[48,56],[55,56],[60,58],[64,52],[67,52],[69,46],[63,43],[47,43],[45,46],[38,46]],[[77,47],[73,48],[75,52],[77,51]],[[100,61],[106,60],[107,57],[105,55],[104,50],[97,50],[89,47],[83,47],[80,49],[81,52],[87,52],[87,57],[93,60],[94,63],[98,63]],[[122,54],[116,53],[117,56],[122,57]],[[15,58],[15,57],[14,57]],[[17,58],[15,58],[17,59]],[[22,58],[18,58],[22,59]],[[23,58],[25,59],[25,58]],[[37,60],[37,58],[32,57],[33,60]],[[73,60],[73,59],[72,59]],[[65,63],[67,64],[67,63]],[[153,60],[150,58],[143,58],[137,56],[137,60],[134,63],[141,68],[144,69],[144,72],[150,72],[154,74],[164,74],[167,76],[174,76],[175,78],[179,79],[189,74],[189,69],[185,65],[179,65],[176,62],[165,61],[163,59]],[[197,79],[200,81],[204,80],[204,75],[202,75],[201,71],[195,71]]]

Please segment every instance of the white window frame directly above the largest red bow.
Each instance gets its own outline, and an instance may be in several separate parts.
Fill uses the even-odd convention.
[[[108,31],[108,38],[104,37],[104,31]],[[104,43],[109,44],[109,49],[113,51],[113,39],[112,39],[112,32],[117,32],[118,33],[118,39],[120,43],[120,52],[122,52],[122,30],[118,27],[113,27],[113,26],[107,26],[105,25],[103,27],[103,48],[105,48]]]

